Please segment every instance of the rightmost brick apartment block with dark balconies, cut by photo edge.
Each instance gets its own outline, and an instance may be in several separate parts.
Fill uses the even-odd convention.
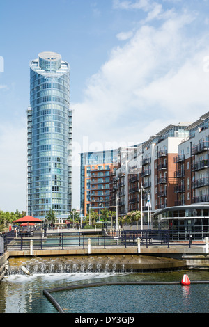
[[[176,205],[209,202],[209,113],[189,125],[189,137],[178,145]]]

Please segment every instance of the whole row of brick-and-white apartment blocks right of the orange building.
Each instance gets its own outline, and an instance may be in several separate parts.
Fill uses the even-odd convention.
[[[140,145],[115,150],[109,209],[118,205],[121,216],[142,209],[146,223],[149,197],[155,226],[169,223],[177,232],[209,228],[208,122],[209,112],[193,123],[171,124]]]

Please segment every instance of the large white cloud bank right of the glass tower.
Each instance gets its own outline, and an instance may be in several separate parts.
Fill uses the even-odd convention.
[[[77,135],[89,142],[137,143],[167,123],[190,122],[208,111],[209,74],[203,72],[208,35],[188,37],[194,19],[173,12],[160,26],[143,25],[125,45],[112,49],[89,79],[84,102],[72,105]]]

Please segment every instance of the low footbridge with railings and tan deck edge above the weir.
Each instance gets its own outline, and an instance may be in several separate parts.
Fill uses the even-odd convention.
[[[156,233],[155,233],[156,232]],[[132,230],[117,232],[115,230],[45,230],[40,234],[22,237],[19,234],[8,238],[6,253],[1,257],[1,276],[5,273],[6,262],[33,263],[47,257],[47,262],[56,260],[58,264],[75,258],[77,266],[86,268],[98,264],[102,269],[117,271],[152,271],[176,269],[209,269],[208,244],[202,240],[170,239],[167,233],[159,231]],[[138,233],[138,234],[137,234]],[[171,235],[170,235],[171,236]],[[42,259],[41,259],[42,258]],[[111,260],[110,260],[111,258]],[[79,262],[79,264],[78,264]]]

